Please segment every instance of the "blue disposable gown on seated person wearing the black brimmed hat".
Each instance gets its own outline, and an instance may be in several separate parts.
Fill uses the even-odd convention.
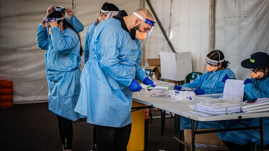
[[[262,80],[257,80],[251,78],[253,83],[248,83],[244,87],[244,91],[249,99],[253,98],[269,98],[269,74],[266,75],[267,78]],[[263,144],[269,144],[269,118],[262,118],[263,122]],[[251,118],[251,119],[242,119],[238,120],[240,123],[243,123],[248,126],[259,126],[260,119],[259,118]],[[219,122],[217,129],[223,128],[235,128],[235,127],[244,127],[240,124],[237,124],[231,120],[224,120]],[[236,144],[247,144],[249,141],[254,144],[260,145],[260,133],[254,130],[239,130],[239,131],[231,131],[231,132],[221,132],[218,133],[217,136],[225,141],[230,141]]]

